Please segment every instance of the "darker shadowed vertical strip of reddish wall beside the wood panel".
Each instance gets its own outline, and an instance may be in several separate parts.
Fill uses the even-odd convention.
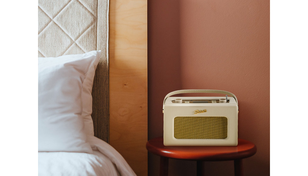
[[[148,139],[163,135],[163,99],[181,89],[179,12],[178,0],[148,1]],[[148,154],[149,176],[159,175],[159,161]]]

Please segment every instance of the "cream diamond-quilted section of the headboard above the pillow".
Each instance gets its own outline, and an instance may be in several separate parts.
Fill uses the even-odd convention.
[[[39,57],[96,50],[97,0],[39,0]]]

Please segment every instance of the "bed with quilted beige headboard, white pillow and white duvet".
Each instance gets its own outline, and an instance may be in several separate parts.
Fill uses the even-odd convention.
[[[39,0],[39,175],[135,175],[109,142],[108,0]]]

